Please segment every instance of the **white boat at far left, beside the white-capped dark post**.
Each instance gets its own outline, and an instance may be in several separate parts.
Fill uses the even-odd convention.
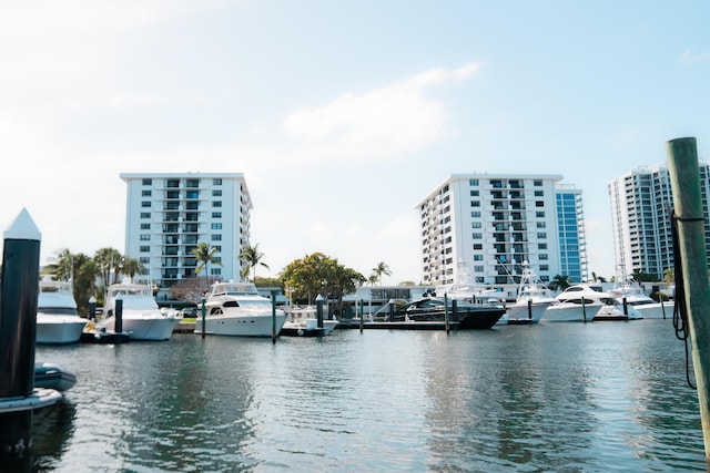
[[[37,343],[78,343],[89,323],[79,316],[71,281],[58,281],[44,276],[37,299]]]

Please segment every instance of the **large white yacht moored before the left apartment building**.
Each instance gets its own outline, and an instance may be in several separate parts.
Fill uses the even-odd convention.
[[[261,296],[252,282],[215,282],[205,299],[205,335],[233,337],[271,337],[278,335],[286,313],[275,309],[270,298]],[[202,333],[202,320],[195,333]]]

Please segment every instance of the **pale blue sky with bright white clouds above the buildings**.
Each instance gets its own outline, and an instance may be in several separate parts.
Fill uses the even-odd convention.
[[[244,173],[276,276],[314,251],[419,281],[454,173],[561,174],[613,275],[609,181],[710,146],[710,2],[0,3],[0,223],[124,250],[121,173]]]

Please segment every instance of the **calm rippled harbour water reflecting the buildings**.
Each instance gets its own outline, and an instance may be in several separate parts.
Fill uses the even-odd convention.
[[[33,470],[706,471],[670,320],[38,347]]]

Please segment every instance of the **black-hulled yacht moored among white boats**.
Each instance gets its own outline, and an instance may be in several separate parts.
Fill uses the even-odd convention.
[[[448,301],[448,307],[443,298],[422,298],[405,304],[394,311],[395,322],[417,322],[417,321],[438,321],[446,320],[447,311],[449,321],[458,322],[462,330],[485,330],[494,327],[496,322],[504,316],[506,309],[503,306],[493,306],[485,304],[459,304],[456,301],[456,310],[454,305]]]

